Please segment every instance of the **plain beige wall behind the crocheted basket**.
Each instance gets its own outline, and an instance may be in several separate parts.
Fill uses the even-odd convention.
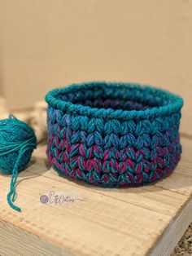
[[[0,0],[0,56],[10,108],[107,80],[171,90],[192,117],[191,0]]]

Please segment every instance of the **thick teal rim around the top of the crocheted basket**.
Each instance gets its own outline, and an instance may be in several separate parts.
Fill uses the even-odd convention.
[[[168,98],[168,103],[159,107],[147,108],[145,110],[123,110],[123,109],[112,109],[112,108],[91,108],[89,106],[84,106],[81,104],[72,104],[71,102],[63,101],[61,99],[57,99],[56,97],[60,94],[76,92],[78,90],[83,89],[105,89],[107,88],[119,88],[122,90],[148,90],[148,92],[157,93],[158,95],[164,96]],[[89,116],[95,118],[107,118],[107,119],[146,119],[153,117],[162,117],[168,116],[171,113],[177,113],[177,111],[181,110],[183,106],[183,99],[179,95],[175,95],[170,93],[168,90],[163,90],[154,86],[146,86],[139,83],[132,82],[83,82],[71,84],[67,87],[60,87],[54,90],[50,90],[50,92],[46,95],[46,103],[51,107],[63,110],[69,114],[81,115],[81,116]]]

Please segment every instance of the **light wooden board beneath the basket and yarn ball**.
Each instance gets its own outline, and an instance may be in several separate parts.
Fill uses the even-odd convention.
[[[98,188],[64,179],[39,146],[20,173],[17,213],[7,205],[10,176],[0,176],[0,254],[4,255],[169,255],[192,221],[192,140],[167,179],[142,188]],[[47,192],[79,201],[40,203]]]

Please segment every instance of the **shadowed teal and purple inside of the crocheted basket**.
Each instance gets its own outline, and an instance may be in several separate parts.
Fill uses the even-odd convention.
[[[145,110],[164,106],[170,98],[164,91],[142,86],[92,86],[71,90],[56,96],[57,99],[91,108],[112,108],[114,110]]]

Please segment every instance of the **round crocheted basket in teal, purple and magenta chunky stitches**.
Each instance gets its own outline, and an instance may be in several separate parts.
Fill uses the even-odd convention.
[[[50,163],[62,174],[104,187],[152,183],[181,157],[183,100],[124,82],[86,82],[46,95]]]

